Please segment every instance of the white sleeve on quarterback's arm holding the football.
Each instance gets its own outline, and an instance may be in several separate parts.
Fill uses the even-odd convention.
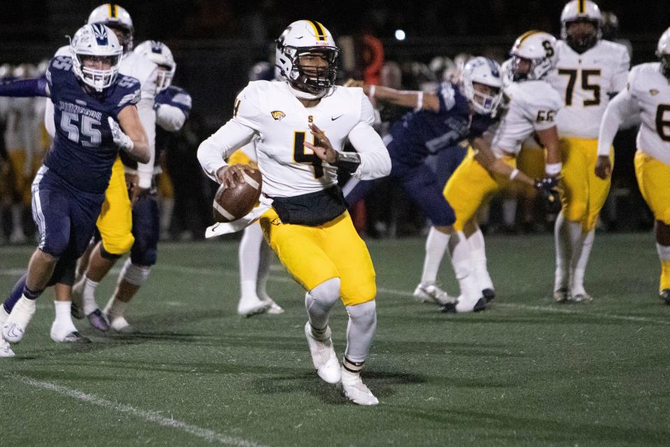
[[[198,147],[198,161],[204,173],[218,183],[216,171],[226,166],[224,159],[250,142],[253,135],[255,131],[251,127],[241,124],[237,119],[230,119]]]

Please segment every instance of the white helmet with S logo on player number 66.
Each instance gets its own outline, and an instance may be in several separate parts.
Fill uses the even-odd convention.
[[[507,66],[511,71],[507,73],[509,79],[540,80],[556,68],[556,38],[543,31],[528,31],[516,39],[509,54],[512,56],[512,63]],[[530,61],[528,73],[519,73],[521,59]]]

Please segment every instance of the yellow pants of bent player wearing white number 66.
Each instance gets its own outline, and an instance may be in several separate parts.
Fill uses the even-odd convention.
[[[516,167],[514,157],[505,156],[502,160],[509,166]],[[463,231],[484,200],[509,183],[509,179],[491,177],[489,171],[475,160],[475,152],[470,147],[468,155],[456,168],[444,189],[444,196],[456,213],[454,229]]]

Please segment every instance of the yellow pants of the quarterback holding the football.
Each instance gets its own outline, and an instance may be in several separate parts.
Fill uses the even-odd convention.
[[[283,223],[270,209],[260,226],[279,261],[306,291],[338,277],[345,306],[375,299],[375,268],[349,212],[320,226],[304,226]]]

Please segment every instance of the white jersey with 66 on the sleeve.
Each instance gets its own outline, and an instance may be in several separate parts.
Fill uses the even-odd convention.
[[[491,149],[496,156],[519,154],[521,145],[535,131],[556,126],[560,95],[544,80],[512,82],[505,87],[507,110],[493,135]]]

